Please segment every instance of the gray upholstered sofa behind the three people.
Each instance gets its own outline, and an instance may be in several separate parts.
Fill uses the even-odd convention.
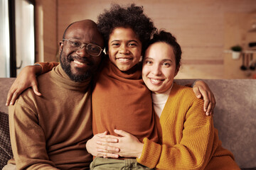
[[[0,169],[12,157],[6,96],[14,78],[0,78]],[[178,84],[193,79],[176,80]],[[215,94],[214,124],[223,147],[233,152],[241,169],[256,169],[256,80],[205,79]]]

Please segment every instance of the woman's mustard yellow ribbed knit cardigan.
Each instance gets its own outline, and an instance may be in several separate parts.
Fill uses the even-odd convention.
[[[225,113],[223,113],[225,114]],[[174,84],[160,116],[161,145],[144,138],[140,164],[156,169],[239,169],[191,88]]]

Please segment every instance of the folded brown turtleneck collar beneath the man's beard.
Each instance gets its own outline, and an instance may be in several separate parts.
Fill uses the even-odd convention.
[[[58,81],[60,86],[65,87],[65,89],[70,89],[74,91],[87,91],[90,86],[91,79],[75,82],[68,77],[68,74],[65,73],[63,68],[58,64],[58,66],[53,68],[52,72],[53,77]]]

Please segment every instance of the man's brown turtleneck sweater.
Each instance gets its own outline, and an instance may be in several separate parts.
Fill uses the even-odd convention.
[[[90,81],[70,80],[58,65],[38,77],[9,107],[11,146],[18,169],[89,169],[92,137]],[[13,161],[9,163],[14,163]]]

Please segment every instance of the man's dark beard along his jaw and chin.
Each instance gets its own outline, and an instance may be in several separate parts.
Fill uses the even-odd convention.
[[[72,56],[65,57],[63,56],[63,51],[60,52],[60,65],[71,80],[81,82],[92,77],[90,69],[88,69],[84,74],[73,74],[71,72],[70,62],[68,61],[70,58],[72,58]]]

